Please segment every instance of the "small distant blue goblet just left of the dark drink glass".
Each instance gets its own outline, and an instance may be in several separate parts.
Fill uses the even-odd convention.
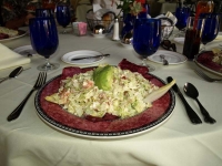
[[[190,17],[190,8],[186,7],[178,7],[175,10],[175,18],[178,22],[175,27],[179,29],[179,33],[176,35],[180,37],[182,30],[186,27],[188,18]]]

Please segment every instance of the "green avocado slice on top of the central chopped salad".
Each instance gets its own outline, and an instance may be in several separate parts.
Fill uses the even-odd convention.
[[[98,66],[93,72],[94,84],[104,91],[112,90],[114,68],[111,65]]]

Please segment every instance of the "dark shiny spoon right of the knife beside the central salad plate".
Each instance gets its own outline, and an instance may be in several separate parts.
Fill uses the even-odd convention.
[[[211,124],[215,123],[216,121],[213,117],[210,116],[210,114],[208,113],[208,111],[203,107],[203,105],[198,100],[199,92],[195,89],[195,86],[193,84],[191,84],[191,83],[185,83],[183,90],[184,90],[184,92],[185,92],[185,94],[188,96],[190,96],[191,98],[193,98],[193,100],[195,100],[198,102],[199,107],[201,110],[201,113],[202,113],[202,115],[204,117],[204,121],[206,123],[211,123]]]

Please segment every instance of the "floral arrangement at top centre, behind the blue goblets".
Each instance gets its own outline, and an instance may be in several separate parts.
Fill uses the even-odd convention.
[[[113,0],[115,2],[115,0]],[[141,11],[144,11],[143,4],[145,3],[145,0],[120,0],[120,3],[117,3],[117,9],[120,9],[120,12],[123,13],[131,13],[133,15],[138,15]]]

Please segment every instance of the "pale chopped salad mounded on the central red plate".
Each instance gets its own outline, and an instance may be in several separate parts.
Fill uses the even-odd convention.
[[[113,66],[112,89],[104,91],[95,85],[93,72],[91,70],[62,80],[58,93],[47,96],[46,100],[61,105],[63,110],[79,117],[103,117],[109,113],[127,118],[152,106],[143,98],[159,87],[140,73]]]

